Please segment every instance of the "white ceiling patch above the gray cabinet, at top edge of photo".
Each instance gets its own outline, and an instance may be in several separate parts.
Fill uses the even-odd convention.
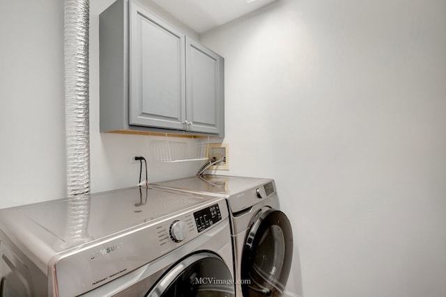
[[[275,0],[152,0],[189,26],[204,33],[251,13]]]

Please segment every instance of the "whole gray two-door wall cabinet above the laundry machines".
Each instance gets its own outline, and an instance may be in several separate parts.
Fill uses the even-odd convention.
[[[224,59],[116,1],[100,15],[100,131],[224,136]]]

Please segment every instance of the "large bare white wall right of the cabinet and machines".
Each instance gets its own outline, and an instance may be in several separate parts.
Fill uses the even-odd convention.
[[[289,292],[446,296],[445,11],[278,0],[201,36],[225,57],[230,173],[275,178],[291,217]]]

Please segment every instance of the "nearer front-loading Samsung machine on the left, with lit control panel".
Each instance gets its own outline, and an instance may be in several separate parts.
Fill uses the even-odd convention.
[[[0,296],[234,296],[226,200],[125,188],[0,210]]]

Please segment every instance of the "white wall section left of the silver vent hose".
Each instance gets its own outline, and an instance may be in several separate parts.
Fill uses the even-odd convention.
[[[0,1],[0,208],[65,195],[63,1]]]

